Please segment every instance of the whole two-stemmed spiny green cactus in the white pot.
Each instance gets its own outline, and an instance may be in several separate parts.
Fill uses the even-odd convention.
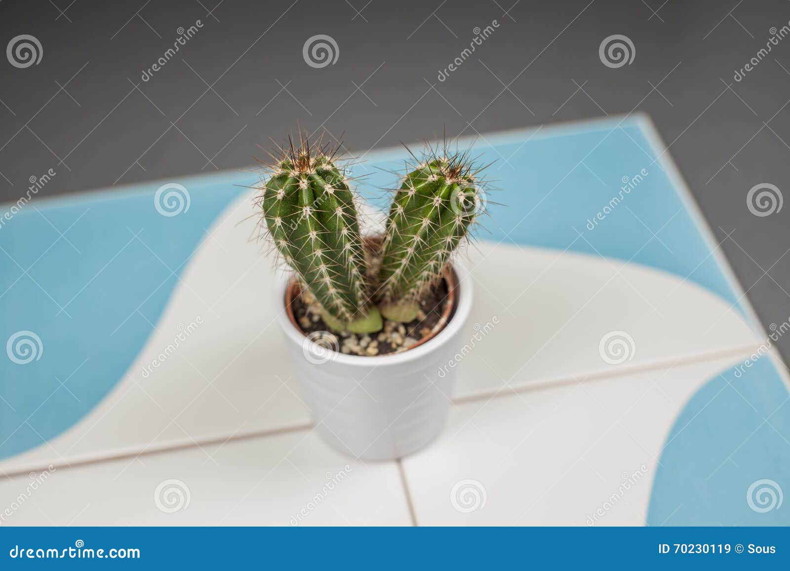
[[[296,145],[288,141],[273,157],[259,205],[274,247],[322,306],[325,325],[371,333],[382,329],[382,315],[414,320],[476,222],[482,169],[468,152],[429,145],[395,191],[385,235],[371,253],[351,181],[334,159],[340,145],[310,145],[301,133]]]

